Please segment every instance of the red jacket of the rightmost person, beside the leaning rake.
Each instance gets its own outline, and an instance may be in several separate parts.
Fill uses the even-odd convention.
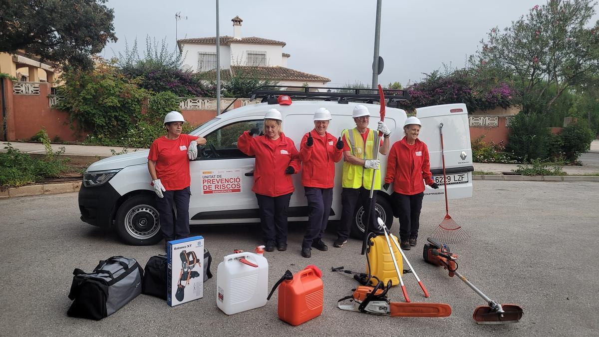
[[[416,139],[414,145],[406,143],[406,137],[391,146],[387,160],[385,183],[393,183],[397,193],[414,195],[424,191],[424,183],[431,185],[431,164],[428,148]]]

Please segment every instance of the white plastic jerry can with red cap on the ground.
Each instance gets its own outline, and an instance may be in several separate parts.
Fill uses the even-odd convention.
[[[227,315],[264,306],[268,295],[268,261],[256,252],[226,255],[216,270],[216,305]]]

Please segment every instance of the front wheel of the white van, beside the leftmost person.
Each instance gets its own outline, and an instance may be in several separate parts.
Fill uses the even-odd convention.
[[[120,239],[129,245],[158,243],[162,233],[154,197],[138,194],[125,200],[116,212],[116,231]]]

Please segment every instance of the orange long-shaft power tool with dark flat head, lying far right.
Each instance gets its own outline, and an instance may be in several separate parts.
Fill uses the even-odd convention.
[[[518,323],[522,318],[522,308],[515,304],[500,304],[490,299],[488,296],[483,294],[477,287],[474,287],[470,281],[464,276],[457,272],[458,255],[453,254],[449,251],[449,247],[439,242],[438,240],[429,237],[428,242],[424,245],[423,257],[428,263],[442,266],[444,269],[449,271],[449,276],[456,275],[465,284],[468,285],[475,293],[479,294],[487,303],[488,306],[479,306],[474,309],[472,318],[478,324],[507,324],[507,323]]]

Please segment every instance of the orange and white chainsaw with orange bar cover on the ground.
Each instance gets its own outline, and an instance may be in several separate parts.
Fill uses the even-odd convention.
[[[389,302],[387,292],[391,288],[389,280],[383,289],[383,282],[376,286],[359,285],[352,289],[351,296],[343,297],[337,301],[341,310],[364,312],[373,315],[390,315],[391,317],[447,317],[451,315],[451,307],[444,303],[404,303]],[[344,304],[342,302],[346,302]]]

